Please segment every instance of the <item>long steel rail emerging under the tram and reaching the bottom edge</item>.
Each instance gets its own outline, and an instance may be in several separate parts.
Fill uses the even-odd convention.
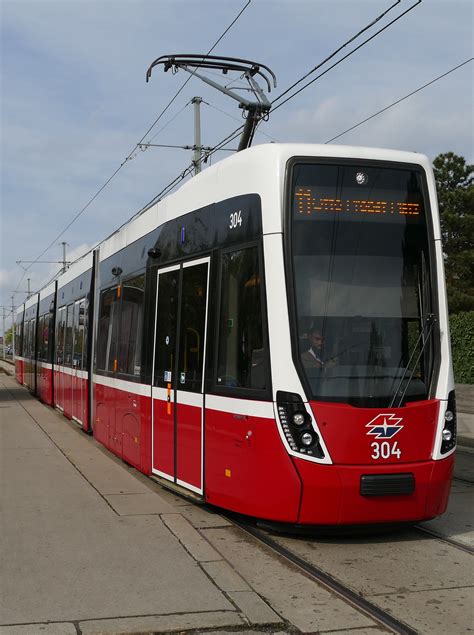
[[[272,551],[277,553],[280,557],[284,558],[288,562],[296,565],[299,569],[305,572],[307,576],[315,580],[318,584],[325,587],[331,593],[334,593],[355,609],[373,619],[379,625],[390,629],[393,633],[399,635],[416,635],[418,631],[411,628],[408,624],[398,620],[391,613],[384,611],[382,608],[370,602],[364,598],[360,593],[354,591],[349,586],[343,584],[338,579],[323,571],[314,564],[311,564],[293,553],[287,547],[282,546],[276,540],[273,540],[266,532],[247,524],[241,520],[238,520],[233,515],[224,514],[226,519],[234,526],[238,527],[248,535],[252,536],[257,541],[261,542]]]

